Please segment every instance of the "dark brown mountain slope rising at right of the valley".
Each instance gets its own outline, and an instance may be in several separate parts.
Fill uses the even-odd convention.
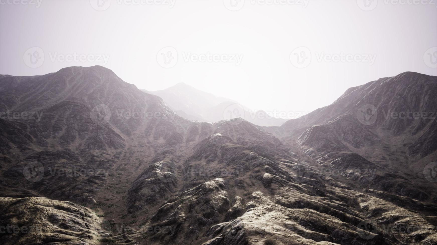
[[[335,169],[355,184],[375,188],[376,183],[384,191],[391,188],[399,195],[435,202],[423,169],[435,161],[430,154],[437,144],[430,138],[436,124],[436,92],[436,77],[406,72],[350,88],[333,104],[267,130],[317,159],[320,168]],[[354,165],[344,168],[351,162]],[[384,170],[371,167],[374,164]],[[363,180],[363,172],[371,178]],[[406,179],[422,187],[411,187]]]

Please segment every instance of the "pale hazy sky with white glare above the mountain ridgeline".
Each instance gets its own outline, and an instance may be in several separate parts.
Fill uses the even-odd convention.
[[[149,91],[312,111],[379,77],[437,75],[435,2],[0,0],[0,74],[102,65]]]

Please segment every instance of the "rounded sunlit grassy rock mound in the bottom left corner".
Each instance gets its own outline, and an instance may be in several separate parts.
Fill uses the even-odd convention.
[[[0,198],[0,207],[2,244],[96,244],[100,237],[94,212],[69,201]]]

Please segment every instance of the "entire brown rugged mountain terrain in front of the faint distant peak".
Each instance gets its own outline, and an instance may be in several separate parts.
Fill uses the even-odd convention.
[[[281,127],[188,121],[103,67],[0,88],[2,244],[437,244],[437,77]]]

